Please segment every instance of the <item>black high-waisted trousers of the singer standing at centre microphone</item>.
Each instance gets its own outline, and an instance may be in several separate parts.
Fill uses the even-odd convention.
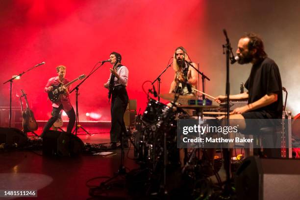
[[[122,132],[125,133],[124,113],[128,104],[128,95],[125,86],[116,86],[111,97],[111,129],[110,142],[121,141]]]

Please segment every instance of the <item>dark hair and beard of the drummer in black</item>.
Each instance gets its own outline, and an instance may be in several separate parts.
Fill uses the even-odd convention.
[[[248,49],[250,51],[256,49],[255,59],[263,60],[268,56],[264,49],[263,40],[257,34],[245,33],[241,38],[249,38]]]

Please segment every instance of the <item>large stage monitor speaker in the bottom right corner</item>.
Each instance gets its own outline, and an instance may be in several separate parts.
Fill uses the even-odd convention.
[[[238,200],[299,200],[300,160],[250,156],[235,175]]]

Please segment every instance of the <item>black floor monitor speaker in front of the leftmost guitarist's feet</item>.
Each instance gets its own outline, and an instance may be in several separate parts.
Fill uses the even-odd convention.
[[[77,156],[84,143],[75,134],[49,130],[43,135],[43,155]]]

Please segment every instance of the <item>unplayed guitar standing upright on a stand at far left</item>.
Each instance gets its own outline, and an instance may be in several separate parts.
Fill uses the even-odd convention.
[[[29,104],[27,101],[27,96],[23,89],[21,89],[22,95],[20,97],[21,101],[21,108],[22,108],[22,117],[23,117],[23,130],[25,133],[36,131],[38,129],[38,125],[36,123],[36,120],[34,119],[33,112],[29,109]],[[25,102],[26,102],[26,109],[23,109],[22,105],[22,97],[24,96]]]

